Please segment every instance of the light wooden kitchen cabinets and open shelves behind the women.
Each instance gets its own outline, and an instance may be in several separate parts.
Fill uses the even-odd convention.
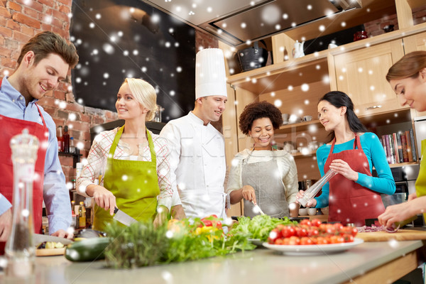
[[[229,103],[222,122],[228,167],[230,168],[236,153],[252,146],[251,139],[238,129],[239,115],[251,102],[267,101],[278,107],[283,114],[312,116],[312,121],[280,126],[275,131],[278,146],[283,146],[286,141],[293,141],[295,148],[306,147],[311,141],[327,141],[329,133],[324,131],[317,120],[317,102],[332,90],[349,94],[356,114],[371,131],[379,126],[398,127],[398,124],[413,121],[413,110],[400,107],[395,92],[386,81],[386,74],[389,67],[405,53],[426,50],[426,23],[413,26],[413,21],[409,21],[410,18],[413,20],[411,9],[420,6],[420,2],[398,0],[398,3],[398,21],[405,23],[400,25],[399,31],[322,50],[302,58],[293,59],[290,56],[290,60],[283,61],[283,50],[291,49],[292,40],[301,40],[299,36],[304,35],[302,31],[315,31],[312,26],[294,29],[285,35],[273,36],[273,65],[236,75],[228,73]],[[364,23],[362,19],[363,17],[358,18],[357,21]],[[224,50],[225,56],[234,54],[235,51],[222,42],[219,42],[219,48]],[[426,112],[422,114],[425,115]],[[298,180],[320,178],[314,152],[308,152],[307,155],[295,153],[293,156]]]

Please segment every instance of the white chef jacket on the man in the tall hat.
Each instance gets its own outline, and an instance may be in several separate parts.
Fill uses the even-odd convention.
[[[186,216],[202,218],[216,214],[226,218],[226,160],[222,133],[211,124],[204,126],[202,119],[190,111],[180,119],[169,121],[160,136],[168,140],[170,172],[175,174],[175,178],[170,178],[177,182]]]

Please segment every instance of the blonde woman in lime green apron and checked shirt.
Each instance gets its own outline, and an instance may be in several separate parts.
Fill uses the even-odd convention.
[[[154,220],[154,224],[163,222],[170,210],[168,146],[145,126],[145,121],[153,119],[156,99],[151,84],[127,78],[116,100],[124,126],[103,131],[94,139],[87,165],[77,179],[78,192],[96,202],[94,229],[102,231],[116,207],[138,221]]]

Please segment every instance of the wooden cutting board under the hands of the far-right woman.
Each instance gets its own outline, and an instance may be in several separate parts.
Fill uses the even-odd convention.
[[[415,231],[407,229],[399,229],[396,233],[388,233],[386,231],[372,231],[368,233],[358,233],[356,238],[364,241],[413,241],[426,239],[426,231]]]

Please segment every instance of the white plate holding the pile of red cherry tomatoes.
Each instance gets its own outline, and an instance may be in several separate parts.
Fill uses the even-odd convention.
[[[300,246],[288,246],[281,244],[268,244],[263,243],[268,249],[273,249],[274,251],[280,251],[282,253],[293,255],[293,256],[312,256],[316,254],[327,254],[327,253],[337,253],[341,251],[346,251],[358,246],[359,244],[364,243],[363,239],[355,238],[351,243],[342,243],[342,244],[313,244],[313,245],[300,245]]]

